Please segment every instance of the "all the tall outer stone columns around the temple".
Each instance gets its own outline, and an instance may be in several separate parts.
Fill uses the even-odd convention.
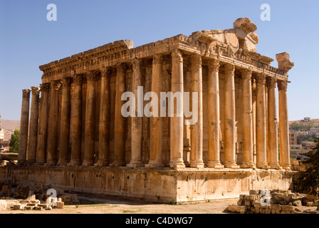
[[[204,167],[203,150],[203,96],[202,96],[202,56],[194,54],[192,63],[192,92],[198,93],[198,121],[192,125],[191,139],[191,167]],[[142,86],[140,61],[131,61],[132,92],[137,95],[137,86]],[[162,55],[156,54],[152,64],[152,92],[160,97],[162,91]],[[208,90],[208,167],[214,168],[239,168],[236,164],[236,110],[235,110],[235,66],[224,64],[224,154],[225,162],[220,162],[220,105],[219,105],[219,66],[217,59],[209,61],[209,90]],[[84,166],[125,166],[125,118],[121,108],[125,103],[121,100],[126,88],[125,64],[117,65],[116,96],[115,96],[115,132],[114,132],[114,160],[110,163],[110,69],[103,68],[101,76],[100,95],[100,123],[99,123],[99,148],[98,162],[95,163],[95,81],[97,73],[90,71],[86,74],[87,90],[86,103],[82,99],[82,75],[72,78],[63,78],[62,81],[52,81],[41,85],[41,105],[38,107],[39,90],[32,87],[31,117],[28,124],[29,97],[31,90],[23,90],[21,108],[21,137],[19,147],[19,163],[37,162],[46,165],[84,165]],[[243,162],[242,167],[276,168],[281,166],[290,168],[288,149],[288,110],[287,110],[287,82],[278,81],[279,90],[279,130],[281,161],[278,161],[278,133],[276,110],[276,80],[266,77],[262,73],[256,74],[256,165],[253,162],[253,96],[252,96],[252,71],[241,70],[243,96]],[[172,93],[183,93],[183,56],[182,51],[172,52]],[[70,115],[70,85],[73,82],[73,111]],[[268,89],[266,104],[265,90]],[[58,90],[62,86],[61,118],[58,123]],[[50,96],[49,96],[50,93]],[[50,100],[49,100],[50,98]],[[50,103],[50,107],[49,104]],[[154,103],[154,105],[160,103]],[[85,143],[84,158],[81,160],[82,139],[82,107],[85,105]],[[170,119],[170,159],[169,166],[173,168],[185,167],[183,161],[184,150],[184,117],[177,115],[183,103],[174,102],[174,117]],[[266,113],[266,105],[268,111]],[[153,106],[154,107],[154,106]],[[39,110],[38,110],[39,109]],[[135,109],[136,112],[139,110]],[[135,113],[131,124],[132,157],[128,167],[140,167],[142,162],[142,115]],[[266,115],[268,121],[266,121]],[[72,119],[72,122],[70,121]],[[58,125],[60,124],[60,125]],[[29,130],[28,130],[29,125]],[[60,128],[60,135],[58,135]],[[71,129],[71,130],[70,130]],[[267,132],[268,131],[268,132]],[[29,132],[29,134],[28,134]],[[268,135],[268,140],[266,140]],[[57,160],[58,137],[60,138],[59,156]],[[71,141],[70,141],[71,138]],[[28,140],[28,142],[27,142]],[[70,161],[68,150],[70,146]],[[267,156],[268,153],[268,156]],[[150,161],[145,167],[162,167],[162,118],[150,118]]]

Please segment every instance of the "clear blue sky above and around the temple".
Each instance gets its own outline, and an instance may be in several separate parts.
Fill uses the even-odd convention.
[[[56,4],[57,21],[48,21]],[[261,4],[271,21],[261,20]],[[263,56],[288,52],[289,120],[319,118],[319,1],[315,0],[0,0],[0,113],[19,120],[21,90],[38,86],[38,66],[122,39],[134,47],[194,31],[233,28],[240,17],[258,26]]]

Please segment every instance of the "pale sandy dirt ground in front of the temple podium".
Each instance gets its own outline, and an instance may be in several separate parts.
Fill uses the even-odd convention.
[[[78,197],[79,204],[67,204],[64,209],[44,211],[6,210],[0,214],[224,214],[229,204],[238,199],[219,199],[193,204],[157,204],[130,199],[95,199]]]

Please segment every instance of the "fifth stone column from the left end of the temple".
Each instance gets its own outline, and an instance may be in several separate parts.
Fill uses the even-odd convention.
[[[60,149],[58,165],[68,164],[68,150],[70,145],[70,83],[72,78],[62,78],[62,101],[60,119]]]

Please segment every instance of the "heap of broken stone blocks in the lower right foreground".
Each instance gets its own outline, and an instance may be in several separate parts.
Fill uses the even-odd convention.
[[[313,195],[292,193],[290,190],[272,190],[269,196],[262,193],[262,190],[251,190],[249,195],[240,195],[237,205],[229,205],[228,211],[243,214],[319,214],[319,199]]]

